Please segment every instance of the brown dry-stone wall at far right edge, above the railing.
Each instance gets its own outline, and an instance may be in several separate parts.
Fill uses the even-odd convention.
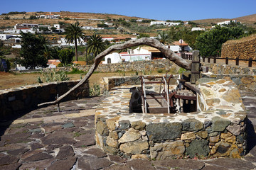
[[[228,40],[221,47],[221,57],[256,60],[256,35],[240,40]]]

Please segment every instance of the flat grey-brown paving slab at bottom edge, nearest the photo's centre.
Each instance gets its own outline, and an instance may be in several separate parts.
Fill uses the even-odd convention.
[[[151,162],[146,159],[132,159],[127,162],[127,166],[131,166],[134,170],[155,170],[154,166],[151,165]]]

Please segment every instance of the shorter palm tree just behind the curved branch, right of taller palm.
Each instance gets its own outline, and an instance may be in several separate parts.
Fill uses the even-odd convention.
[[[100,52],[106,49],[105,43],[102,41],[102,37],[100,35],[93,34],[90,36],[87,41],[87,54],[90,55],[93,53],[94,57],[96,57]]]

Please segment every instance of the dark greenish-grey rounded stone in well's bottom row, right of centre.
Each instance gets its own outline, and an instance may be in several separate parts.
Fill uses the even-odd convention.
[[[193,140],[189,147],[186,148],[186,154],[193,158],[196,156],[208,157],[210,149],[207,140]]]

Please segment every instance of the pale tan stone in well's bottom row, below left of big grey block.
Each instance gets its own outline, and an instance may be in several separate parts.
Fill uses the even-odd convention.
[[[127,142],[120,145],[120,150],[126,154],[141,154],[145,149],[149,149],[147,141]]]

